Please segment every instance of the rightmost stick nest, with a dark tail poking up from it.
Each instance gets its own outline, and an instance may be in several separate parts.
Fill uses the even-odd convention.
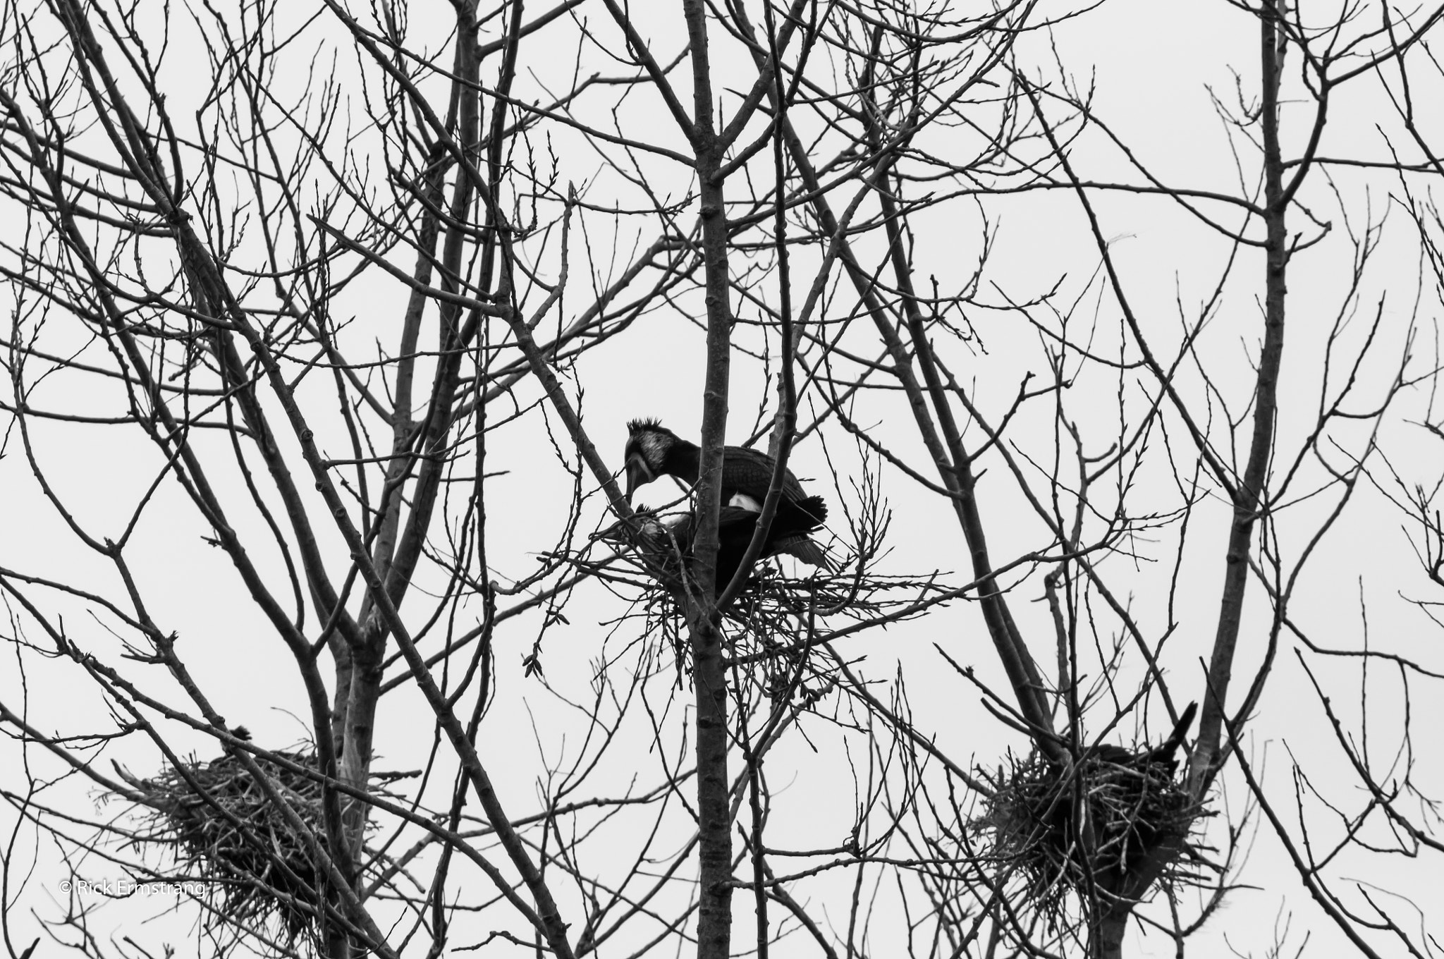
[[[1139,868],[1167,846],[1177,854],[1154,881],[1191,877],[1181,854],[1201,809],[1175,780],[1171,755],[1105,745],[1067,765],[1037,754],[1009,763],[985,773],[995,791],[976,825],[1045,916],[1061,919],[1074,894],[1141,897]]]

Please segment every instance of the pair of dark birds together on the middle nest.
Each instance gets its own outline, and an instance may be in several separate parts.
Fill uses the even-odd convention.
[[[638,487],[660,477],[676,477],[687,485],[696,485],[700,472],[702,448],[682,439],[653,419],[627,423],[627,501]],[[722,508],[718,516],[718,560],[716,589],[722,591],[732,581],[762,513],[762,501],[773,481],[777,461],[764,452],[745,446],[722,449]],[[762,540],[758,559],[768,556],[796,556],[804,563],[827,569],[827,555],[810,539],[810,533],[822,529],[827,520],[827,504],[822,497],[810,497],[803,491],[797,477],[788,469],[783,475],[783,491],[777,501],[777,514]],[[692,543],[697,533],[696,513],[686,513],[660,521],[645,517],[643,536],[658,555],[680,555],[690,557]]]

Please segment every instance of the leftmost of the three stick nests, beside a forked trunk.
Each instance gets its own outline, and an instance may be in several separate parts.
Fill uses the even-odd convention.
[[[300,770],[316,768],[309,748],[276,755]],[[325,842],[322,786],[305,771],[254,758],[313,839],[292,825],[240,758],[222,755],[155,778],[127,777],[144,797],[137,804],[144,823],[139,842],[168,848],[185,880],[206,882],[208,930],[270,927],[287,943],[313,939],[328,885],[310,846]]]

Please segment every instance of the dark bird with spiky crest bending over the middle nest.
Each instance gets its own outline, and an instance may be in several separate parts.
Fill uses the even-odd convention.
[[[631,503],[637,487],[661,475],[676,477],[687,485],[696,485],[702,448],[682,439],[657,420],[631,420],[627,423],[625,456],[627,501]],[[775,465],[777,461],[764,452],[745,446],[725,446],[722,449],[723,508],[761,513]],[[804,563],[827,569],[827,555],[817,543],[807,539],[807,534],[820,529],[826,520],[827,504],[823,503],[823,498],[807,495],[791,469],[784,471],[783,494],[777,501],[777,514],[773,517],[773,526],[767,534],[767,547],[771,552],[764,549],[764,556],[790,553]],[[741,517],[734,518],[734,526],[742,523]],[[751,524],[755,527],[755,518]],[[745,549],[747,543],[742,543],[742,550]],[[738,559],[741,559],[741,553],[738,553]]]

